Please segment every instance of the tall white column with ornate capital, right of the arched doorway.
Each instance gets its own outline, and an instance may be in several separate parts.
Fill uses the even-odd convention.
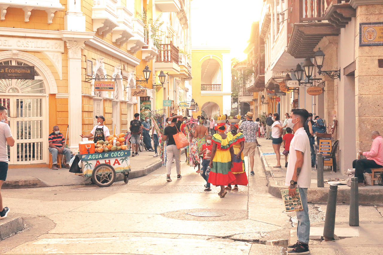
[[[69,149],[79,150],[82,133],[81,50],[83,41],[67,41],[69,91]]]

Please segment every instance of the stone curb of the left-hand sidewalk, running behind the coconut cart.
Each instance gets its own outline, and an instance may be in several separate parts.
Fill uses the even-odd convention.
[[[150,165],[148,165],[146,168],[142,168],[137,171],[131,171],[129,172],[129,179],[139,178],[148,175],[149,173],[153,172],[154,170],[157,170],[158,168],[162,167],[162,160],[158,160]],[[90,178],[88,178],[90,179]],[[116,180],[115,181],[123,181],[124,175],[122,173],[116,174]],[[86,181],[86,179],[84,180]],[[85,183],[89,184],[90,180]],[[70,185],[76,185],[76,184],[68,184],[68,185],[59,185],[59,186],[70,186]],[[39,180],[38,178],[34,179],[27,179],[27,180],[9,180],[5,181],[3,183],[2,189],[21,189],[21,188],[43,188],[43,187],[51,187],[51,185],[47,185],[43,181]],[[1,233],[0,233],[1,235]]]

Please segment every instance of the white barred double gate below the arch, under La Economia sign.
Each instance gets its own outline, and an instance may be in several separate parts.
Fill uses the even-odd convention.
[[[10,164],[44,163],[48,148],[45,96],[2,96],[0,105],[8,110],[8,122],[15,146],[8,146]],[[43,152],[44,151],[44,152]]]

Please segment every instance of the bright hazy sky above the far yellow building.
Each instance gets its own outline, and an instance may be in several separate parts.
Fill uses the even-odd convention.
[[[231,47],[232,57],[243,53],[251,24],[259,20],[262,0],[192,0],[191,46]]]

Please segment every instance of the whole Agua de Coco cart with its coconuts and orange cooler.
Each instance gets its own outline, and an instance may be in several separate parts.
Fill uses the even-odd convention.
[[[128,183],[131,171],[130,150],[124,145],[123,135],[111,136],[108,141],[98,141],[96,144],[92,141],[80,142],[78,156],[81,160],[81,173],[75,175],[92,177],[97,186],[108,187],[116,180],[117,173],[123,173],[124,182]]]

